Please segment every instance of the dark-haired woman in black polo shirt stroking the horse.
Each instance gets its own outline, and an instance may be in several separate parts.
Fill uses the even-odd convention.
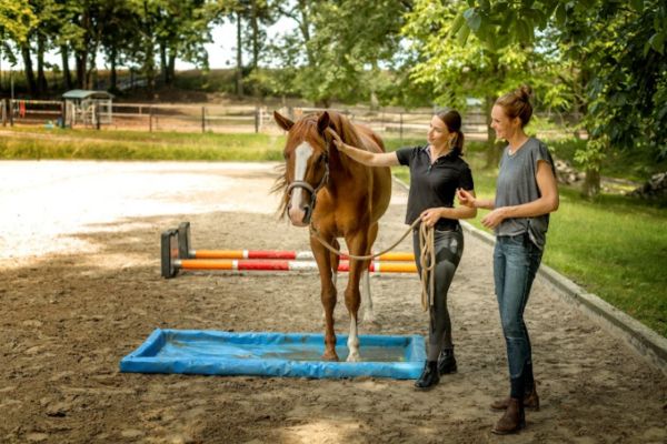
[[[389,153],[359,150],[344,143],[338,135],[334,140],[339,151],[365,165],[409,167],[410,193],[406,223],[411,225],[419,218],[421,223],[435,228],[436,289],[429,313],[428,357],[421,376],[415,383],[419,390],[431,389],[439,382],[441,374],[457,370],[447,292],[464,252],[459,219],[477,215],[476,209],[462,205],[454,208],[457,189],[475,195],[470,168],[461,159],[464,133],[460,114],[451,110],[434,115],[427,139],[426,145],[401,148]],[[419,230],[412,232],[412,245],[415,261],[420,268]]]

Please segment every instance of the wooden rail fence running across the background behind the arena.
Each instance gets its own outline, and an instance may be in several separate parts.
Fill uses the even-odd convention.
[[[66,122],[62,119],[63,102],[49,100],[0,101],[3,125],[47,125],[56,127]],[[292,120],[320,108],[267,105],[222,105],[222,104],[152,104],[113,103],[110,123],[104,130],[177,131],[177,132],[235,132],[235,133],[280,133],[273,122],[273,110]],[[349,107],[336,109],[351,121],[366,124],[374,131],[390,137],[421,138],[428,131],[432,109],[405,111],[400,109]],[[479,112],[462,115],[462,131],[469,140],[486,140],[486,117]]]

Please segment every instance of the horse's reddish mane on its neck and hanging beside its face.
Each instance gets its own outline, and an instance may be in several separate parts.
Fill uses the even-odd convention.
[[[295,125],[292,127],[292,129],[290,130],[290,132],[292,132],[292,137],[300,137],[302,139],[306,139],[306,135],[308,134],[309,131],[315,131],[317,133],[317,124],[318,124],[318,120],[319,118],[322,115],[323,112],[318,112],[318,113],[312,113],[312,114],[308,114],[305,115],[303,118],[301,118],[300,120],[298,120],[297,122],[295,122]],[[364,137],[367,137],[369,139],[371,139],[375,143],[377,143],[380,149],[382,151],[385,151],[385,145],[381,141],[381,139],[379,139],[372,131],[367,130],[367,134],[360,134],[361,128],[356,128],[356,125],[350,122],[350,120],[348,118],[346,118],[345,115],[336,112],[336,111],[327,111],[327,113],[329,114],[329,128],[334,129],[334,131],[336,131],[336,133],[340,137],[340,139],[352,147],[357,147],[361,150],[369,150],[368,144],[364,141]],[[320,134],[321,137],[321,134]],[[327,144],[329,144],[329,147],[334,147],[332,143],[330,143],[331,140],[331,135],[325,133],[323,135],[325,141]],[[334,150],[336,148],[332,148]],[[348,159],[348,157],[341,157],[340,158],[340,162],[344,164],[344,168],[348,168],[349,162],[354,162],[350,159]],[[276,182],[273,184],[273,186],[271,188],[271,193],[282,193],[283,198],[282,202],[280,203],[280,206],[278,208],[277,211],[277,215],[282,219],[286,213],[287,213],[287,203],[288,203],[288,195],[286,193],[287,191],[287,186],[289,185],[289,183],[287,182],[287,163],[282,162],[280,163],[278,167],[276,167],[276,173],[277,173],[277,179]]]

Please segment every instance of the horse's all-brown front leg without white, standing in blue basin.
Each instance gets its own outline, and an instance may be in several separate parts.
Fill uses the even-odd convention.
[[[327,242],[331,242],[329,236],[326,236]],[[336,333],[334,331],[334,309],[336,309],[336,286],[331,280],[331,260],[329,251],[317,241],[310,238],[310,249],[315,255],[317,268],[320,275],[320,297],[322,307],[325,309],[325,353],[322,359],[326,361],[338,361],[336,353]]]

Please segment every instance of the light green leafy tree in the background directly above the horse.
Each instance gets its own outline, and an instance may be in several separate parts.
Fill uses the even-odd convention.
[[[390,62],[398,50],[409,8],[409,2],[398,0],[338,0],[297,1],[291,9],[282,9],[298,24],[282,46],[288,56],[282,65],[299,63],[296,89],[322,107],[334,99],[370,99],[380,65]]]

